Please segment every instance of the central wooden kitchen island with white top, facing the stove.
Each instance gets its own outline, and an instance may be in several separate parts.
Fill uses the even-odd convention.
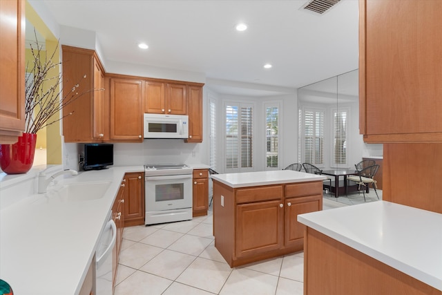
[[[280,170],[211,175],[215,247],[230,267],[304,245],[298,214],[323,207],[324,176]]]

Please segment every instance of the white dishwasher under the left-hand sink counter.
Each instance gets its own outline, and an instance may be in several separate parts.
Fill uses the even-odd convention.
[[[96,270],[95,270],[95,294],[112,294],[112,250],[117,239],[117,227],[112,219],[112,211],[107,218],[108,222],[104,226],[102,236],[100,236],[95,251]]]

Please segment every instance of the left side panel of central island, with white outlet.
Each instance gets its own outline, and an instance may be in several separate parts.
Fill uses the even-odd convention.
[[[221,205],[224,196],[224,206]],[[233,265],[235,252],[235,195],[231,187],[213,179],[213,236],[215,248]]]

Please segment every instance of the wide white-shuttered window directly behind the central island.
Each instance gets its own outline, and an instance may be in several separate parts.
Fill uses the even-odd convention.
[[[226,169],[253,168],[253,106],[226,106]]]

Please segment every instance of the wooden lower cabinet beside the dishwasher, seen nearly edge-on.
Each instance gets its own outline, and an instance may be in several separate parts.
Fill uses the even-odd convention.
[[[112,207],[112,218],[117,226],[117,240],[115,242],[115,247],[113,247],[112,253],[112,281],[113,286],[115,286],[115,279],[117,278],[117,267],[119,260],[119,251],[122,247],[123,242],[123,227],[124,227],[124,181],[118,190],[117,198]]]

